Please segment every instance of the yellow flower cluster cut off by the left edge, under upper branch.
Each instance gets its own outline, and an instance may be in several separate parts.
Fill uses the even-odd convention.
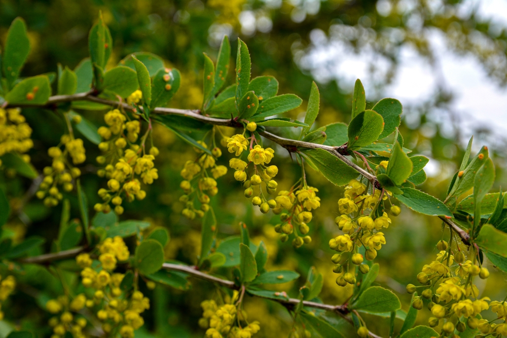
[[[22,155],[25,162],[30,162],[30,157],[24,153],[33,147],[33,141],[30,139],[31,132],[25,117],[21,115],[21,109],[0,108],[0,156],[17,153]],[[1,160],[0,166],[2,166]]]

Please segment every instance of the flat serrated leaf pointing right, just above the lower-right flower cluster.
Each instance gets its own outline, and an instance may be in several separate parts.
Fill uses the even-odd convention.
[[[440,200],[412,188],[401,188],[403,195],[395,197],[409,209],[430,216],[451,216],[452,213]]]

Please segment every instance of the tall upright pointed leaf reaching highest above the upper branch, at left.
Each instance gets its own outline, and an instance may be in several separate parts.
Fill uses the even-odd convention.
[[[88,48],[92,63],[98,64],[103,69],[111,55],[113,44],[109,28],[107,28],[102,19],[102,13],[99,13],[98,22],[90,29]]]

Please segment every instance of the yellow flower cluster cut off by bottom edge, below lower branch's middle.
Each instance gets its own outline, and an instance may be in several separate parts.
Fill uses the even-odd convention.
[[[206,338],[251,338],[261,329],[260,323],[246,322],[246,312],[238,310],[233,305],[238,298],[237,291],[234,291],[232,298],[228,298],[230,297],[226,297],[226,303],[220,306],[212,299],[202,302],[203,313],[199,319],[199,326],[207,328]],[[239,326],[240,321],[246,322],[247,325]],[[238,326],[234,326],[235,323],[238,323]]]

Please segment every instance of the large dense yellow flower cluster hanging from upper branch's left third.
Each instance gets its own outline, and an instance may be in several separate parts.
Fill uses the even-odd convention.
[[[108,127],[102,126],[98,129],[99,135],[105,141],[98,145],[103,155],[97,157],[97,162],[108,163],[104,169],[98,170],[97,174],[108,179],[108,189],[99,189],[98,195],[103,203],[95,204],[94,209],[107,213],[111,211],[112,203],[115,212],[121,215],[124,211],[124,199],[132,202],[134,199],[142,200],[146,197],[146,191],[141,190],[140,181],[152,184],[158,179],[158,169],[153,161],[159,155],[159,150],[152,146],[149,154],[145,152],[144,141],[150,130],[143,136],[140,145],[134,144],[139,137],[140,122],[127,122],[127,116],[120,110],[108,111],[104,115],[104,121]],[[127,145],[129,148],[125,149]]]

